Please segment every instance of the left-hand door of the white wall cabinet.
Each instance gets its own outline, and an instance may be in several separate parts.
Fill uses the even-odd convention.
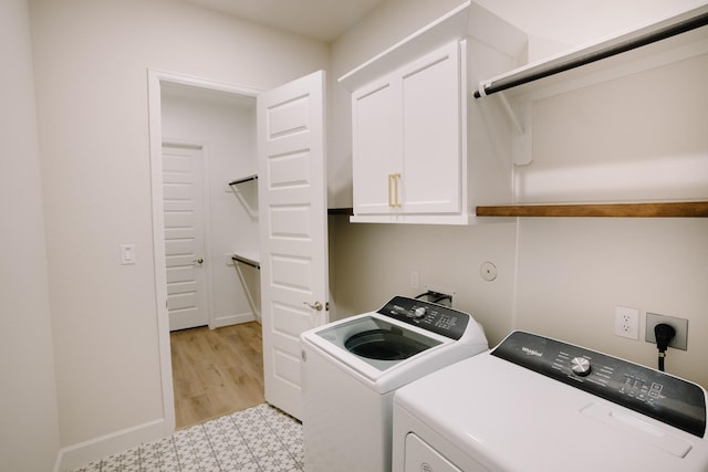
[[[400,98],[391,77],[352,95],[354,212],[391,213],[396,210],[391,176],[400,175]]]

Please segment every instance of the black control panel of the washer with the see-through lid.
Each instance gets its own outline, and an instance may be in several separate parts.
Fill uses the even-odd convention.
[[[377,313],[456,340],[462,337],[471,318],[448,306],[406,296],[393,297]]]

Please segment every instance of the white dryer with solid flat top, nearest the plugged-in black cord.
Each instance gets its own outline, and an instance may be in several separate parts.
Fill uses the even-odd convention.
[[[399,389],[393,448],[395,472],[706,472],[706,390],[514,332]]]

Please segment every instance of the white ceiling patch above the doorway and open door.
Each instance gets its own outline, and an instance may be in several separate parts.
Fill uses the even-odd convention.
[[[385,0],[188,0],[256,23],[330,43]]]

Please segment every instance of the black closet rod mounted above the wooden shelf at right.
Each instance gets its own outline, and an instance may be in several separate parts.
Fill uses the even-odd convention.
[[[689,18],[687,20],[680,21],[678,23],[669,24],[659,30],[643,34],[641,36],[626,40],[618,44],[608,46],[606,49],[595,51],[580,57],[569,59],[559,64],[549,66],[546,69],[541,69],[538,71],[529,71],[527,73],[520,73],[519,75],[514,75],[508,78],[500,78],[498,81],[491,82],[488,86],[483,87],[483,95],[491,95],[497,92],[502,92],[509,88],[513,88],[519,85],[527,84],[529,82],[538,81],[540,78],[548,77],[550,75],[555,75],[561,72],[569,71],[571,69],[580,67],[585,64],[590,64],[596,61],[601,61],[606,57],[611,57],[613,55],[622,54],[623,52],[632,51],[633,49],[642,48],[647,44],[655,43],[657,41],[662,41],[677,34],[681,34],[691,30],[695,30],[700,27],[705,27],[708,24],[708,12],[699,14],[697,17]],[[479,98],[482,96],[480,91],[475,92],[475,98]]]

